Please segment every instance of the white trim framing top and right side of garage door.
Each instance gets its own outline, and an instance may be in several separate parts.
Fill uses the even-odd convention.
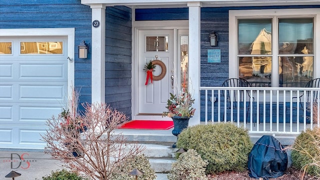
[[[67,56],[68,60],[68,95],[71,95],[74,87],[74,28],[14,28],[0,29],[0,37],[5,36],[67,36]]]

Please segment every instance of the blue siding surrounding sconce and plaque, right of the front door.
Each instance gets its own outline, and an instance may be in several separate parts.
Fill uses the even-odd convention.
[[[270,9],[270,8],[316,8],[320,7],[309,6],[255,6],[255,7],[204,7],[201,8],[201,30],[200,30],[200,48],[201,48],[201,63],[200,63],[200,85],[201,86],[221,86],[223,81],[228,78],[228,45],[229,45],[229,24],[228,10],[235,9]],[[214,31],[218,36],[217,46],[210,46],[209,33]],[[221,49],[221,62],[208,63],[207,49]],[[213,80],[214,79],[214,80]],[[200,116],[201,121],[204,121],[204,92],[200,94]]]

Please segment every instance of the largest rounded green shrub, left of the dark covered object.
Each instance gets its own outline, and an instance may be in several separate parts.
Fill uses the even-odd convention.
[[[207,173],[247,169],[248,154],[253,146],[247,130],[232,123],[195,125],[178,136],[177,147],[195,149],[209,164]]]

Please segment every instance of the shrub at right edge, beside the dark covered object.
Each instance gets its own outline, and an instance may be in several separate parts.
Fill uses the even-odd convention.
[[[292,146],[292,166],[305,168],[310,175],[320,174],[320,129],[313,128],[302,131]]]

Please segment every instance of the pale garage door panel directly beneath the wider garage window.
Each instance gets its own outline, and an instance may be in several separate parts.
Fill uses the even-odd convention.
[[[19,79],[37,78],[64,80],[65,64],[20,64]]]

